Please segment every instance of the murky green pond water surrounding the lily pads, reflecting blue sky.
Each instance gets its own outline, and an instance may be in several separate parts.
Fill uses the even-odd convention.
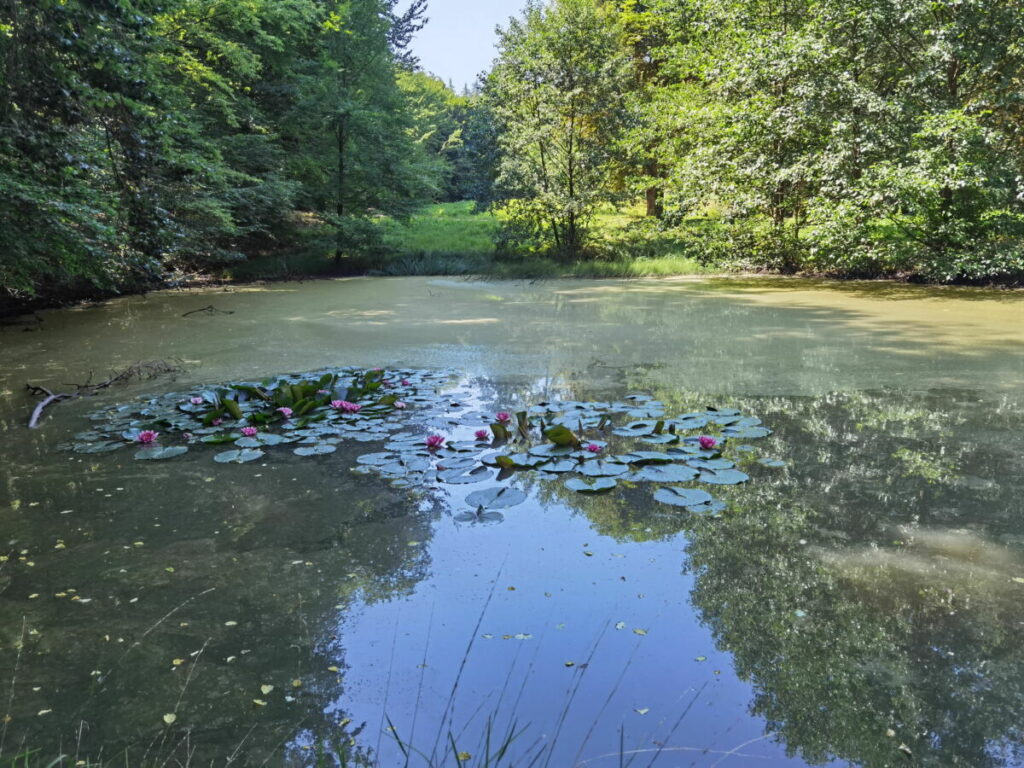
[[[39,316],[0,327],[2,765],[477,766],[488,731],[509,766],[1024,765],[1018,293],[357,279]],[[26,428],[26,383],[155,358],[184,372]],[[717,517],[655,482],[401,487],[358,470],[382,441],[59,450],[142,395],[344,366],[454,372],[414,435],[632,393],[772,433],[730,440]],[[526,501],[473,519],[495,484]]]

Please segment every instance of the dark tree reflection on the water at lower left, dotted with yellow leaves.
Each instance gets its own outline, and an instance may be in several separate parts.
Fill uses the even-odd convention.
[[[232,753],[259,765],[289,752],[307,764],[303,745],[345,749],[356,724],[339,727],[332,711],[339,625],[356,598],[408,594],[426,575],[428,548],[409,542],[429,541],[431,517],[376,478],[325,476],[308,461],[237,472],[208,461],[143,473],[129,457],[97,462],[87,482],[18,479],[18,498],[49,512],[2,520],[35,563],[5,563],[0,585],[0,666],[18,664],[4,756],[74,744],[81,759],[132,765]],[[67,549],[54,551],[58,537]]]

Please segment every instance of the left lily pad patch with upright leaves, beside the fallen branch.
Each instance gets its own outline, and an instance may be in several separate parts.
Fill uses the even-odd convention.
[[[386,439],[403,425],[397,416],[406,408],[434,404],[435,389],[450,378],[341,368],[169,392],[92,414],[96,426],[63,447],[100,454],[134,446],[136,459],[152,461],[219,445],[227,450],[213,460],[224,464],[261,459],[276,445],[292,445],[296,456],[323,456],[342,439]]]

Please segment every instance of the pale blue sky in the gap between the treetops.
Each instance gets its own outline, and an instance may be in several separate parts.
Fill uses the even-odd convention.
[[[519,13],[523,0],[429,0],[430,23],[413,50],[429,73],[451,80],[457,91],[472,85],[495,58],[495,27]]]

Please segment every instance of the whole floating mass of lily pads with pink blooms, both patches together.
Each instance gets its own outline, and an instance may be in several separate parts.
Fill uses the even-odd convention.
[[[451,379],[451,372],[343,368],[171,392],[92,414],[96,427],[66,447],[96,454],[135,446],[135,459],[152,461],[210,445],[225,449],[213,453],[216,462],[246,463],[273,446],[312,457],[334,453],[341,440],[382,442],[382,450],[358,457],[355,470],[397,486],[500,482],[529,472],[564,479],[567,489],[581,494],[652,483],[655,501],[714,514],[724,509],[722,502],[682,483],[745,482],[750,477],[734,457],[754,449],[741,441],[771,433],[734,409],[668,417],[662,402],[643,394],[607,402],[546,401],[492,417],[442,394]],[[408,408],[420,418],[410,419]],[[456,437],[424,434],[428,425]],[[480,428],[463,438],[473,427]],[[466,503],[479,515],[525,499],[506,483],[471,493]]]

